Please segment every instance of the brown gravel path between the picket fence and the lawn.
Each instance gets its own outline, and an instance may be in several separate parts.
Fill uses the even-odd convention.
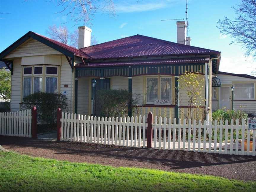
[[[0,145],[21,154],[57,160],[256,180],[256,156],[128,148],[7,136],[0,136]]]

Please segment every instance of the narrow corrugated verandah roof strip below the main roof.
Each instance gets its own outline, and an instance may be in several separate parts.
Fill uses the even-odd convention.
[[[174,59],[152,59],[152,60],[132,60],[132,61],[112,61],[112,62],[97,62],[80,63],[76,67],[111,67],[111,66],[131,66],[131,65],[155,65],[155,64],[179,64],[179,63],[207,63],[206,58],[174,58]]]

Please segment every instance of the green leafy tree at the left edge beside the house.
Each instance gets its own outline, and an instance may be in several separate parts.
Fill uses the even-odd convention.
[[[11,72],[5,71],[5,68],[0,69],[0,98],[11,98]]]

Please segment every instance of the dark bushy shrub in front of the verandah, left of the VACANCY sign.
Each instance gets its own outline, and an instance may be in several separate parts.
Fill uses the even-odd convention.
[[[127,116],[129,102],[132,102],[132,94],[125,89],[99,90],[95,95],[95,115],[104,117]]]

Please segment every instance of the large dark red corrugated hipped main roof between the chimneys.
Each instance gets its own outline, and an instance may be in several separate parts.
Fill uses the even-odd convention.
[[[81,48],[81,51],[93,59],[110,59],[121,57],[145,57],[164,55],[204,55],[220,52],[178,44],[143,35],[135,35]]]

